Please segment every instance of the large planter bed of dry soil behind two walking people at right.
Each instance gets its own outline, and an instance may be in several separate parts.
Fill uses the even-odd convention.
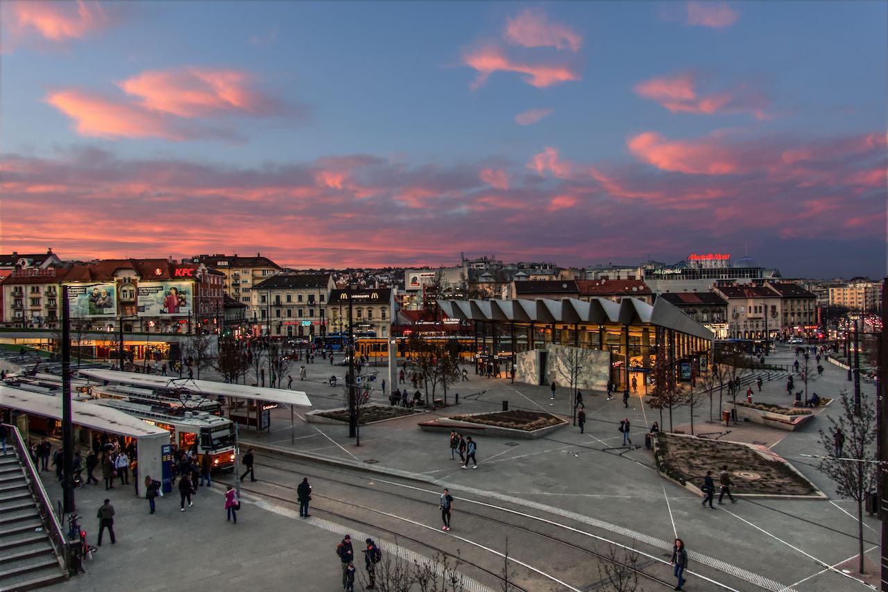
[[[826,499],[789,462],[764,446],[661,433],[654,438],[654,459],[663,477],[698,495],[707,470],[718,489],[718,471],[726,464],[734,495]]]

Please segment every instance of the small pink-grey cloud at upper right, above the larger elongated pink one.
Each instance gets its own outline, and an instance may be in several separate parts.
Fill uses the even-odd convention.
[[[635,86],[639,97],[651,99],[672,113],[692,114],[738,114],[749,113],[757,119],[766,119],[765,96],[747,83],[737,85],[733,90],[699,95],[696,91],[694,73],[652,78]]]

